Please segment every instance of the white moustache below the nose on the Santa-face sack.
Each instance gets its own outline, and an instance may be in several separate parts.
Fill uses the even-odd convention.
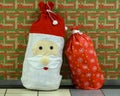
[[[62,59],[60,57],[50,55],[46,56],[49,59],[49,62],[47,65],[42,64],[42,59],[44,56],[42,55],[37,55],[31,58],[27,58],[28,63],[34,67],[35,69],[40,69],[43,70],[44,67],[48,67],[48,70],[54,69],[61,66],[62,64]]]

